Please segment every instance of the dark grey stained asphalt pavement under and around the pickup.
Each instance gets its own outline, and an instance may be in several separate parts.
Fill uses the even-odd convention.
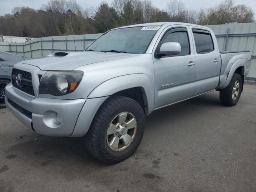
[[[218,92],[157,110],[133,156],[95,160],[83,138],[40,136],[0,109],[0,192],[255,192],[256,85],[238,104]]]

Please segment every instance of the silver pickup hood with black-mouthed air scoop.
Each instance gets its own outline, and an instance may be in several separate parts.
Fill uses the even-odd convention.
[[[138,54],[113,52],[58,52],[42,58],[24,60],[20,63],[37,66],[41,70],[74,70],[80,66],[109,60],[133,57]]]

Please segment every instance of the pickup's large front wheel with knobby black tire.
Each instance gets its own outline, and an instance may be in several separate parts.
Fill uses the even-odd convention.
[[[123,117],[126,113],[124,120]],[[120,122],[123,120],[122,125]],[[119,127],[116,126],[119,124]],[[134,124],[136,126],[131,128]],[[144,125],[144,111],[138,102],[125,96],[111,96],[100,106],[94,116],[85,136],[86,148],[98,160],[107,164],[116,164],[130,157],[136,151],[144,134]],[[127,136],[128,134],[130,137]],[[119,142],[113,142],[118,139]],[[114,147],[115,145],[117,148]]]

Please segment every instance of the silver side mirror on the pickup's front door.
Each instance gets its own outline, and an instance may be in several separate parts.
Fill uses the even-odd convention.
[[[177,42],[168,42],[161,45],[160,50],[158,52],[158,58],[161,56],[170,56],[177,55],[181,52],[180,43]]]

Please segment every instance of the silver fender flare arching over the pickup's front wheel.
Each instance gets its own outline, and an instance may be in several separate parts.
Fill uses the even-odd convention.
[[[151,81],[146,74],[128,74],[109,79],[94,88],[88,98],[110,96],[116,92],[134,87],[141,87],[144,90],[148,105],[146,115],[150,114],[154,110],[154,81]]]

